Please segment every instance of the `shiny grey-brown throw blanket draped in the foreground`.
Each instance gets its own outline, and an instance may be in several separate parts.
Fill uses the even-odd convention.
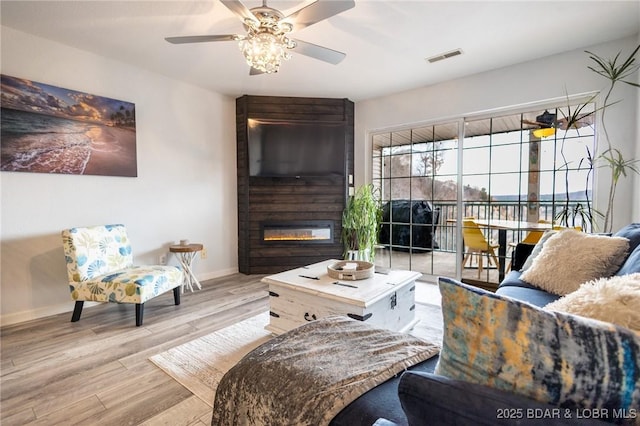
[[[439,350],[347,317],[313,321],[257,347],[224,375],[211,424],[326,425],[363,393]]]

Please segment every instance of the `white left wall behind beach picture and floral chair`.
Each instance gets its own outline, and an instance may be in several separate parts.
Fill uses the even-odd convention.
[[[208,250],[198,277],[237,272],[235,100],[7,27],[1,36],[3,74],[134,102],[138,159],[137,178],[0,173],[2,324],[73,308],[67,227],[126,224],[140,264],[186,238]]]

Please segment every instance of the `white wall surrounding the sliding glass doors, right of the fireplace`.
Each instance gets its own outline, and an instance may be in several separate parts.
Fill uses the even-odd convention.
[[[612,58],[622,50],[620,56],[626,59],[637,44],[638,37],[634,36],[359,102],[355,114],[356,185],[371,180],[370,132],[602,90],[608,81],[587,69],[591,61],[584,50],[604,58]],[[607,110],[607,129],[612,143],[626,158],[640,158],[640,90],[625,84],[618,86],[611,99],[622,99],[622,102]],[[598,184],[595,202],[596,208],[604,211],[603,202],[606,203],[609,180],[606,173],[608,169],[602,170],[605,173],[596,171]],[[640,221],[640,183],[637,176],[623,179],[618,185],[613,229],[632,220]]]

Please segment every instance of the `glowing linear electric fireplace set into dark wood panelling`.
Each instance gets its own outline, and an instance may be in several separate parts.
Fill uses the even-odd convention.
[[[333,243],[333,221],[262,222],[260,235],[265,244],[330,244]]]

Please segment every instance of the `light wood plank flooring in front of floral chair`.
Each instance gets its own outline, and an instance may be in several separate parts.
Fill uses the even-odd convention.
[[[0,423],[209,425],[211,408],[149,361],[174,346],[264,312],[262,276],[235,274],[145,304],[86,307],[0,330]],[[69,301],[70,309],[73,302]]]

